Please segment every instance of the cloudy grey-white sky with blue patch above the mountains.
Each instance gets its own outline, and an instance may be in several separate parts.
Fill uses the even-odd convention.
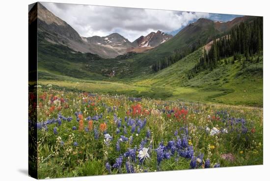
[[[81,36],[107,36],[117,32],[130,41],[157,30],[175,35],[199,18],[230,21],[241,16],[52,2],[42,4],[72,26]]]

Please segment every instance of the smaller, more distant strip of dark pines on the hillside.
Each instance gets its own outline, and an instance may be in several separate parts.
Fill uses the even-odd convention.
[[[192,48],[188,48],[185,51],[176,50],[173,55],[162,58],[159,61],[156,61],[152,65],[152,70],[154,72],[158,72],[158,71],[170,66],[171,64],[176,63],[177,61],[183,59],[184,57],[186,57],[190,53],[197,50],[200,46],[201,46],[200,41],[198,41],[197,45],[193,45]]]

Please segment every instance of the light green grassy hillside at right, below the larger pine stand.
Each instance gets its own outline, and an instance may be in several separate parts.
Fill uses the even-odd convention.
[[[173,91],[169,99],[218,102],[225,104],[262,106],[263,58],[259,63],[247,63],[243,70],[241,60],[235,64],[223,63],[214,71],[203,71],[188,80],[187,72],[199,59],[198,50],[162,71],[133,80],[134,85],[156,87]],[[253,57],[255,60],[255,57]],[[227,59],[228,60],[228,59]],[[230,58],[229,60],[232,60]]]

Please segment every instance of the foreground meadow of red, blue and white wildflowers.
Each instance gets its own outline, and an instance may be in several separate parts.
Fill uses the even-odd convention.
[[[52,85],[38,87],[36,98],[39,179],[263,163],[262,108]]]

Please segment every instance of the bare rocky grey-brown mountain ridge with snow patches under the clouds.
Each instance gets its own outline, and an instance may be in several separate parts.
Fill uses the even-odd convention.
[[[130,51],[141,53],[170,39],[169,35],[163,32],[161,33],[161,31],[158,30],[158,35],[155,35],[153,40],[149,40],[151,41],[151,45],[149,45],[148,42],[147,48],[140,48],[144,46],[136,42],[130,42],[117,32],[103,37],[96,35],[83,37],[68,23],[55,16],[40,2],[38,2],[38,31],[39,35],[50,43],[62,44],[74,51],[97,54],[104,58],[115,58]],[[162,39],[158,37],[159,35],[165,35],[165,38]],[[148,37],[148,35],[146,37]]]

